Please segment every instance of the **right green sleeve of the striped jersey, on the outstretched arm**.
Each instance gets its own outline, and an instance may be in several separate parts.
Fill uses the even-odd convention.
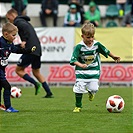
[[[110,53],[110,51],[105,46],[103,46],[101,43],[98,44],[98,52],[104,55],[106,58],[108,58],[108,55]]]

